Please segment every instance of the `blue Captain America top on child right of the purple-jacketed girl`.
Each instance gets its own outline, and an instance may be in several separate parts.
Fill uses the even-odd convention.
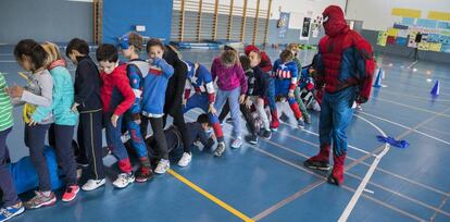
[[[282,64],[278,59],[272,69],[272,76],[275,78],[276,95],[287,95],[290,90],[293,92],[299,76],[297,64],[293,61]]]

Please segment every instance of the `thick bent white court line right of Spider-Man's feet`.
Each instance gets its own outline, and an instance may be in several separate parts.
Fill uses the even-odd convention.
[[[362,116],[358,116],[358,118],[360,118],[361,120],[363,120],[366,123],[371,124],[383,136],[385,136],[385,137],[387,136],[386,133],[382,128],[379,128],[377,125],[375,125],[371,121],[368,121],[368,120],[366,120],[366,119],[364,119]],[[364,178],[362,180],[361,184],[358,186],[357,192],[354,192],[354,194],[351,197],[349,203],[347,205],[346,209],[343,210],[342,214],[340,215],[340,218],[338,220],[339,222],[347,221],[347,219],[349,218],[351,211],[353,210],[354,206],[357,205],[358,200],[360,199],[361,194],[365,189],[365,186],[367,185],[367,183],[371,180],[373,173],[375,172],[376,166],[378,165],[378,163],[382,160],[382,158],[389,151],[389,149],[390,149],[390,145],[389,144],[385,144],[385,148],[383,149],[383,151],[375,157],[374,162],[372,163],[371,168],[368,169],[368,171],[365,174]]]

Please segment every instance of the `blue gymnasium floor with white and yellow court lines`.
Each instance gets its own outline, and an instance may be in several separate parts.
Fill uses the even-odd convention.
[[[184,59],[207,65],[217,53],[183,51]],[[268,53],[274,60],[278,52]],[[305,52],[302,58],[312,55]],[[342,187],[303,168],[318,149],[317,113],[301,131],[291,126],[295,122],[283,104],[290,118],[271,140],[227,149],[222,158],[195,150],[186,169],[174,162],[170,173],[149,183],[123,190],[107,183],[104,188],[82,192],[73,202],[29,210],[12,221],[337,221],[342,214],[349,221],[450,221],[450,65],[418,62],[413,72],[407,69],[410,60],[378,61],[387,87],[374,88],[363,111],[353,116]],[[11,46],[0,46],[0,71],[8,73],[10,85],[24,84]],[[433,99],[429,90],[436,79],[440,96]],[[187,113],[186,120],[193,121],[198,111]],[[13,161],[27,155],[20,110],[15,112],[8,139]],[[227,141],[230,130],[224,125]],[[375,136],[383,134],[405,139],[410,147],[380,144]]]

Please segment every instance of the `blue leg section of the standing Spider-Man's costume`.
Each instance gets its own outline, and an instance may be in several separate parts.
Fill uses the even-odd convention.
[[[355,88],[349,87],[335,94],[325,92],[321,106],[318,134],[321,145],[333,141],[333,151],[337,156],[347,152],[346,128],[349,125],[355,98]]]

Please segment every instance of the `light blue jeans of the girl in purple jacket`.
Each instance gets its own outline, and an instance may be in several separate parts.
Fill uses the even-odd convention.
[[[214,108],[217,110],[217,113],[222,111],[226,100],[229,102],[229,108],[232,110],[232,120],[233,120],[233,127],[234,127],[234,136],[236,138],[240,138],[240,115],[239,115],[239,96],[240,96],[240,87],[237,87],[233,90],[217,90],[217,98],[215,99]]]

